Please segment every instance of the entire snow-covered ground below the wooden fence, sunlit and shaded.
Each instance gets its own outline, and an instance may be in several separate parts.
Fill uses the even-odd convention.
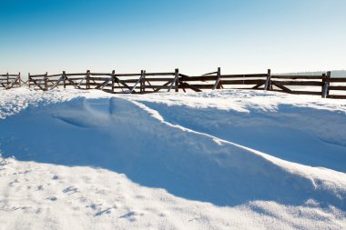
[[[346,229],[346,100],[0,91],[0,229]]]

